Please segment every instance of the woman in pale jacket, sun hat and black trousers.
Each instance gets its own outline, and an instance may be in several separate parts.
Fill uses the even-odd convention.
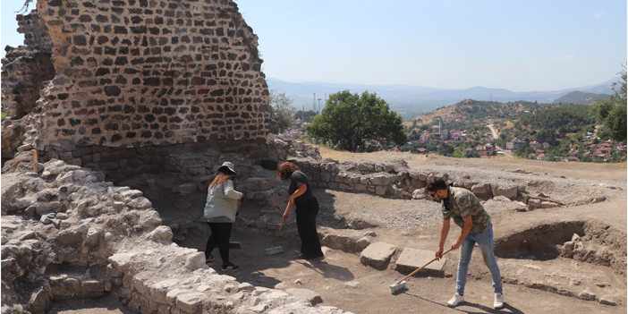
[[[205,183],[208,199],[205,203],[203,219],[208,222],[211,229],[211,236],[205,247],[205,259],[207,262],[214,260],[211,251],[216,244],[220,244],[218,250],[220,258],[223,259],[223,270],[240,268],[229,261],[229,238],[239,201],[242,199],[242,193],[235,191],[235,174],[233,164],[227,161]]]

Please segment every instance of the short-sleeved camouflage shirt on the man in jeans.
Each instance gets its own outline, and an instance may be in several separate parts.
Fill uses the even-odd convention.
[[[471,216],[473,226],[471,233],[480,233],[490,225],[490,216],[473,192],[463,188],[449,188],[449,211],[445,208],[445,201],[440,201],[440,209],[443,211],[443,220],[454,218],[455,225],[464,226],[464,218]]]

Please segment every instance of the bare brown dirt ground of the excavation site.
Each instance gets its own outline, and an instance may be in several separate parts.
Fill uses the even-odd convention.
[[[323,157],[331,157],[339,161],[365,159],[370,161],[384,161],[403,158],[409,166],[413,165],[459,165],[475,166],[490,169],[514,170],[552,174],[574,179],[593,179],[603,177],[604,180],[626,181],[626,165],[599,165],[585,163],[550,163],[543,161],[519,160],[519,159],[454,159],[449,157],[419,157],[409,153],[377,152],[370,154],[352,154],[321,149]],[[348,208],[352,204],[371,202],[371,207],[398,208],[405,206],[407,200],[383,199],[377,197],[365,198],[357,193],[345,193],[340,191],[327,191],[314,189],[319,198],[326,197],[321,203],[327,202],[324,208],[333,208],[333,215],[347,216]],[[331,196],[331,198],[330,198]],[[330,199],[329,199],[330,198]],[[560,221],[565,217],[579,219],[581,221],[598,219],[613,225],[625,233],[626,230],[626,198],[607,199],[598,204],[579,207],[539,209],[532,212],[514,215],[512,211],[491,213],[496,239],[512,232],[513,229],[524,230],[535,225],[547,222]],[[190,203],[183,207],[190,211],[201,210],[202,204]],[[181,208],[181,207],[180,207]],[[248,208],[246,202],[242,203],[242,212],[245,214]],[[326,215],[321,212],[319,215]],[[388,242],[395,244],[399,249],[412,247],[422,250],[435,250],[440,225],[430,224],[417,229],[375,227],[364,232],[375,232],[377,236],[371,242]],[[449,245],[454,237],[460,233],[460,228],[453,225],[446,245]],[[322,303],[317,306],[335,306],[339,309],[352,311],[353,313],[625,313],[625,279],[620,278],[595,278],[598,281],[611,282],[623,285],[624,295],[619,297],[616,306],[603,305],[598,301],[583,301],[574,297],[567,297],[556,293],[548,293],[539,289],[527,288],[521,284],[504,284],[505,308],[494,310],[493,293],[490,277],[487,276],[486,267],[481,262],[481,256],[474,252],[469,281],[467,282],[465,300],[460,306],[450,309],[446,307],[454,293],[455,265],[457,254],[447,257],[445,276],[414,276],[409,279],[408,290],[392,295],[389,285],[394,284],[406,274],[393,269],[388,265],[386,269],[375,269],[364,266],[360,262],[359,254],[346,253],[342,250],[324,248],[326,259],[318,263],[310,263],[301,259],[293,259],[299,249],[300,243],[290,235],[280,236],[277,245],[281,245],[284,253],[266,256],[264,250],[271,247],[276,233],[262,232],[256,228],[244,225],[236,225],[232,235],[232,241],[242,242],[241,250],[231,250],[231,260],[242,266],[238,271],[226,273],[220,270],[220,258],[217,250],[214,251],[216,260],[213,262],[219,274],[234,276],[239,282],[264,286],[269,288],[288,289],[293,287],[305,288],[321,295]],[[197,229],[188,235],[183,246],[204,250],[208,230]],[[625,254],[625,252],[624,252]],[[398,256],[398,253],[397,255]],[[395,258],[394,258],[395,259]],[[500,267],[505,271],[517,271],[522,263],[530,265],[534,263],[538,267],[553,270],[554,274],[560,272],[574,272],[578,267],[588,267],[583,263],[574,263],[571,259],[552,260],[517,260],[498,259]],[[391,263],[392,264],[392,263]],[[511,265],[512,264],[512,265]],[[585,263],[586,264],[586,263]],[[574,268],[575,267],[575,268]],[[606,268],[606,267],[601,267]],[[582,268],[581,271],[589,271],[591,274],[606,274],[613,276],[600,267]],[[608,275],[610,274],[610,275]],[[539,280],[545,280],[545,275],[539,275]],[[604,275],[602,275],[604,276]],[[534,278],[533,278],[534,279]],[[97,301],[65,301],[56,303],[49,313],[130,313],[130,311],[112,299]]]

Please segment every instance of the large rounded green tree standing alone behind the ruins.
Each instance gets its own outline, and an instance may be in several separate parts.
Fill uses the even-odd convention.
[[[307,129],[317,142],[337,149],[376,151],[391,142],[402,146],[408,141],[402,122],[376,93],[365,91],[359,96],[344,90],[329,96],[322,114]]]

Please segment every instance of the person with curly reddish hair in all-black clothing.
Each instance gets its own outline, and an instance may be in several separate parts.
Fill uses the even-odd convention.
[[[301,255],[298,259],[320,261],[325,259],[320,250],[320,241],[316,231],[316,216],[318,215],[318,199],[314,196],[310,187],[310,180],[299,170],[299,167],[284,162],[277,169],[279,180],[290,179],[288,193],[290,199],[285,207],[284,221],[290,216],[290,211],[296,205],[297,230],[301,238]]]

